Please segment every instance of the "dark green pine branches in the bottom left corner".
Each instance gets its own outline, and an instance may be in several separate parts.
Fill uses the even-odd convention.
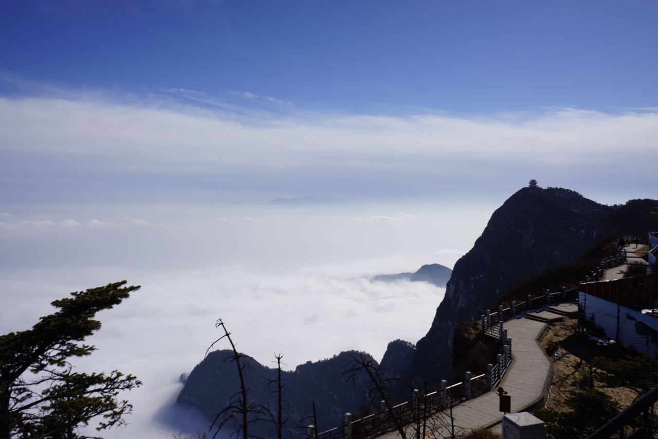
[[[32,329],[0,336],[0,439],[84,438],[78,427],[95,417],[97,430],[125,423],[132,405],[119,395],[141,382],[119,371],[78,373],[70,363],[95,349],[82,344],[101,328],[95,314],[139,289],[125,284],[73,292]]]

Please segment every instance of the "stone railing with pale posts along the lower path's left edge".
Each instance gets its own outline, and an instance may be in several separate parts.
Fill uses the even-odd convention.
[[[381,436],[397,430],[398,425],[418,423],[421,419],[490,392],[498,386],[512,363],[512,339],[507,337],[507,330],[503,330],[502,341],[503,349],[497,355],[495,365],[488,365],[486,373],[473,376],[467,372],[462,382],[449,386],[446,380],[442,380],[438,390],[426,395],[414,389],[411,400],[393,406],[393,413],[390,413],[384,401],[381,401],[380,409],[376,413],[370,413],[360,419],[353,419],[351,413],[345,413],[345,423],[336,428],[316,434],[315,427],[310,425],[309,438],[317,436],[318,439],[359,439]]]

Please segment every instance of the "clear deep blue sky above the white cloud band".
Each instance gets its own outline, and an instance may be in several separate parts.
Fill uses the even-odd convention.
[[[4,2],[0,69],[138,93],[482,113],[655,105],[653,1]]]

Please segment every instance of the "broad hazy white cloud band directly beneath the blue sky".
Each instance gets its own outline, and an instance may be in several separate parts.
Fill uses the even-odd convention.
[[[26,197],[53,185],[101,199],[509,192],[533,177],[604,192],[619,187],[620,168],[633,170],[627,183],[649,182],[641,157],[655,149],[658,114],[236,113],[162,99],[5,97],[0,133],[3,186]]]

